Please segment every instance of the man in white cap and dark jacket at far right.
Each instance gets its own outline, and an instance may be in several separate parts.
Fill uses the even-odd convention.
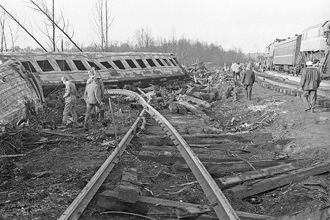
[[[314,112],[316,103],[316,90],[321,83],[320,72],[313,67],[312,61],[306,62],[307,68],[301,71],[300,87],[303,90],[303,100],[305,103],[305,111]]]

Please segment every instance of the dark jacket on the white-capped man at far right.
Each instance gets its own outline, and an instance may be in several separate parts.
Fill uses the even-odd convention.
[[[300,87],[304,90],[316,90],[321,83],[320,72],[315,67],[307,67],[301,71]]]

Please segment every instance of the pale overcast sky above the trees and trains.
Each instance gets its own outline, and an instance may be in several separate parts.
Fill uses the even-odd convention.
[[[0,0],[2,6],[19,17],[41,42],[35,22],[41,15],[26,7],[28,0]],[[46,0],[51,6],[51,0]],[[91,29],[95,0],[55,0],[74,28],[73,39],[88,45],[95,33]],[[275,38],[292,37],[309,26],[330,20],[330,0],[112,0],[115,17],[110,38],[125,42],[134,38],[141,27],[152,36],[169,39],[175,30],[177,38],[213,42],[225,49],[239,47],[244,53],[264,52]],[[37,44],[21,31],[19,46]]]

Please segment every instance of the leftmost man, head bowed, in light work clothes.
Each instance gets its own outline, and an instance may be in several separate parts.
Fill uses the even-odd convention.
[[[73,118],[73,124],[77,124],[77,89],[74,83],[71,83],[65,76],[61,78],[62,83],[65,85],[65,93],[63,98],[65,99],[65,106],[63,110],[62,123],[68,125],[69,112]]]

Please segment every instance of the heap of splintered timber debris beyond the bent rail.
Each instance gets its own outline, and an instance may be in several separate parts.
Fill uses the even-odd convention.
[[[203,115],[203,111],[218,100],[234,96],[237,100],[239,84],[227,72],[210,71],[204,62],[195,63],[188,68],[188,80],[164,81],[160,85],[138,88],[125,85],[124,89],[145,94],[150,97],[151,105],[156,109],[168,108],[173,113]],[[142,108],[138,103],[131,108]]]

